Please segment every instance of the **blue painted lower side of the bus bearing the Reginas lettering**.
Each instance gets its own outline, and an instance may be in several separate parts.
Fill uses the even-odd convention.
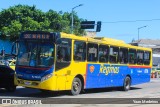
[[[131,77],[131,85],[150,81],[151,68],[109,64],[88,64],[86,76],[87,88],[123,86],[125,77]]]

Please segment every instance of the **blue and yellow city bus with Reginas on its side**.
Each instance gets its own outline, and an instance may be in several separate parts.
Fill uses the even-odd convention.
[[[15,84],[41,91],[121,87],[150,81],[152,50],[104,37],[23,32],[16,44]]]

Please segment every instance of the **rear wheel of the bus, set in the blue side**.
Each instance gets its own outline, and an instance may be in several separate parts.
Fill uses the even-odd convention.
[[[129,76],[127,76],[125,79],[124,79],[124,83],[123,83],[123,87],[122,87],[122,90],[123,91],[128,91],[130,90],[130,87],[131,86],[131,78]]]

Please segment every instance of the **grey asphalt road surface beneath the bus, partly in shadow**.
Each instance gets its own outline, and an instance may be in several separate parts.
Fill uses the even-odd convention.
[[[79,103],[76,103],[76,104],[80,104],[81,100],[82,101],[86,100],[85,98],[111,98],[109,100],[112,100],[112,98],[114,98],[112,103],[115,103],[115,104],[120,103],[121,100],[127,101],[126,99],[128,98],[142,98],[142,99],[143,98],[158,98],[160,100],[160,79],[152,79],[151,82],[149,83],[132,86],[131,90],[127,92],[119,91],[117,90],[117,88],[90,89],[90,90],[85,90],[85,93],[82,93],[80,95],[71,96],[68,94],[67,91],[42,93],[41,91],[37,89],[17,87],[17,90],[14,93],[10,93],[4,89],[0,89],[0,98],[34,98],[34,99],[46,98],[45,103],[48,103],[48,104],[53,102],[53,98],[56,98],[56,99],[60,98],[60,100],[56,100],[56,101],[59,101],[57,102],[58,104],[65,103],[64,99],[66,98],[67,99],[80,98]],[[119,98],[119,99],[115,99],[115,98]],[[125,99],[121,99],[121,98],[125,98]],[[105,99],[102,99],[102,102],[103,100]],[[96,102],[94,102],[93,100],[91,103],[95,104]],[[82,104],[82,105],[86,106],[87,103]],[[136,104],[136,105],[139,106],[140,104]],[[149,105],[147,106],[149,107]]]

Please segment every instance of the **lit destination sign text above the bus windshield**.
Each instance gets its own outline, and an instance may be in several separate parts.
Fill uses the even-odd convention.
[[[50,39],[49,34],[24,34],[22,36],[24,39]]]

